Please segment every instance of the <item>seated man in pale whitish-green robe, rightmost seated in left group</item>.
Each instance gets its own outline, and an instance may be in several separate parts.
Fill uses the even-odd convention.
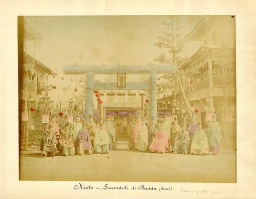
[[[109,135],[107,130],[104,129],[104,124],[99,124],[100,128],[96,130],[94,137],[94,152],[96,154],[109,153]]]

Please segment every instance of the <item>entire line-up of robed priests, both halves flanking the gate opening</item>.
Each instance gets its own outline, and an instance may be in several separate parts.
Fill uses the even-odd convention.
[[[42,157],[83,155],[83,154],[107,154],[109,150],[117,147],[116,124],[111,117],[106,122],[100,120],[99,124],[89,120],[69,123],[67,116],[60,125],[52,116],[45,126],[45,132],[41,140]],[[187,126],[180,127],[177,118],[170,124],[166,117],[158,123],[153,119],[145,124],[143,118],[136,117],[127,126],[128,147],[138,151],[150,151],[152,153],[182,153],[182,154],[217,154],[220,152],[221,125],[216,120],[216,114],[212,115],[212,121],[208,124],[207,134],[202,129],[200,122],[193,116]]]

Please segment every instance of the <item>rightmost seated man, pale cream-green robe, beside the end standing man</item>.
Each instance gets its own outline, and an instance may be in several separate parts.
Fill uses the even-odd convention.
[[[191,153],[205,155],[209,154],[208,151],[208,138],[205,131],[202,129],[200,122],[197,124],[197,131],[193,136],[193,141],[191,143]]]

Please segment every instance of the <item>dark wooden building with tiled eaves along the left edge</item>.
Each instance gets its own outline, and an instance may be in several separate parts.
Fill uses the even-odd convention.
[[[41,40],[30,25],[19,17],[18,20],[18,78],[19,78],[19,115],[20,115],[20,141],[27,142],[25,134],[28,129],[35,129],[34,121],[29,112],[30,107],[36,107],[37,101],[45,93],[39,91],[41,85],[48,84],[48,76],[56,75],[51,69],[25,52],[26,42],[29,40]],[[28,114],[27,114],[28,113]],[[22,147],[22,146],[21,146]]]

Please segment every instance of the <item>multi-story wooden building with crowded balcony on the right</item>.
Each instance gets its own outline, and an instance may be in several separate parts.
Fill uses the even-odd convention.
[[[227,143],[236,140],[236,51],[234,16],[204,17],[187,37],[201,46],[182,66],[186,73],[185,94],[190,106],[199,109],[196,120],[207,126],[206,113],[213,111],[221,122]],[[192,85],[193,89],[191,88]],[[205,110],[206,97],[211,96],[210,110]],[[176,88],[176,99],[181,100]],[[200,100],[202,103],[200,102]],[[228,114],[227,114],[228,113]],[[231,120],[230,116],[231,115]]]

